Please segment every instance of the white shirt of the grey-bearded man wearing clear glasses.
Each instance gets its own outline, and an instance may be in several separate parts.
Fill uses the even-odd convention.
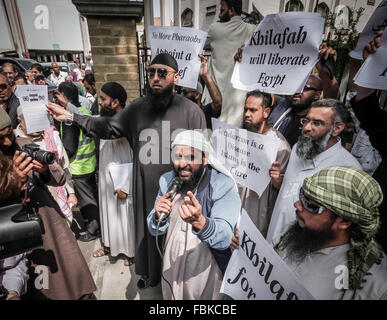
[[[340,140],[312,160],[298,157],[296,148],[297,143],[293,146],[281,190],[273,209],[266,238],[270,243],[275,237],[287,231],[296,221],[296,209],[293,204],[299,200],[299,191],[306,177],[331,166],[351,166],[361,170],[359,162],[341,146]]]

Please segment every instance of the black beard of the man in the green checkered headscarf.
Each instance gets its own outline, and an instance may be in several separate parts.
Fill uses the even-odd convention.
[[[292,262],[301,262],[308,254],[320,250],[332,241],[335,237],[335,233],[331,230],[334,218],[332,216],[330,226],[319,231],[301,228],[298,222],[294,223],[287,231],[284,241],[287,259]]]

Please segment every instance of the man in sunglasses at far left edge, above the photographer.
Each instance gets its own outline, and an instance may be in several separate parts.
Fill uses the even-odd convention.
[[[16,112],[18,106],[20,106],[20,101],[12,92],[12,81],[6,73],[0,72],[0,107],[7,111],[13,129],[19,124]]]

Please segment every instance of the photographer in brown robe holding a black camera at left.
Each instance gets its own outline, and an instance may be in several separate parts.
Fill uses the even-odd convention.
[[[48,283],[40,293],[47,299],[83,298],[96,287],[66,218],[46,187],[63,185],[64,171],[56,162],[43,165],[19,151],[25,143],[31,140],[16,139],[9,116],[0,108],[0,150],[13,159],[13,172],[19,181],[19,188],[7,188],[0,205],[20,203],[23,199],[24,205],[38,213],[43,221],[43,246],[28,257],[32,267],[47,267]]]

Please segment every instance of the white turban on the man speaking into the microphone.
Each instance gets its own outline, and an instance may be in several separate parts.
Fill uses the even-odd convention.
[[[172,142],[172,148],[177,145],[192,147],[207,153],[208,164],[211,167],[234,179],[230,171],[228,171],[227,168],[218,159],[215,158],[214,149],[201,132],[194,130],[185,130],[180,132]]]

